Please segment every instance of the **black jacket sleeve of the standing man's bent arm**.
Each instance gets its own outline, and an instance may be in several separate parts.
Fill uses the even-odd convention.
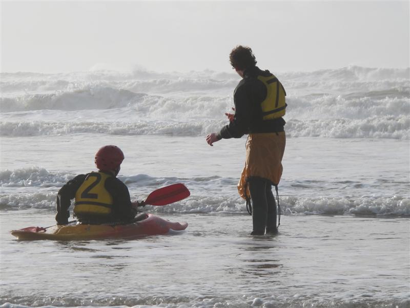
[[[248,133],[252,116],[252,101],[253,99],[247,84],[241,81],[234,92],[234,119],[228,125],[222,127],[218,133],[218,138],[241,138],[244,134]]]

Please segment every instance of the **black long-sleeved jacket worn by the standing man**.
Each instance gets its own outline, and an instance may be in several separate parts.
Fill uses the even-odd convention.
[[[266,98],[267,88],[257,79],[258,75],[271,76],[272,74],[268,70],[262,71],[257,66],[244,71],[243,79],[234,91],[234,119],[222,127],[218,133],[219,138],[241,138],[247,133],[284,131],[283,118],[262,120],[260,105]]]

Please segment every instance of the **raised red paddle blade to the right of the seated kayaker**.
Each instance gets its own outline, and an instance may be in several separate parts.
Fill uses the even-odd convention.
[[[181,183],[172,184],[151,192],[147,200],[145,200],[145,204],[167,205],[185,199],[189,195],[191,195],[191,192],[185,185]]]

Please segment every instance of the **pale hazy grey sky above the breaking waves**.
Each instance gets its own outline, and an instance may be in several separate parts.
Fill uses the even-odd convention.
[[[2,0],[1,71],[230,71],[236,45],[275,71],[409,67],[409,3]]]

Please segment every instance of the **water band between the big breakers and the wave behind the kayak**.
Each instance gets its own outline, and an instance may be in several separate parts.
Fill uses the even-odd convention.
[[[178,203],[177,211],[194,210],[194,199],[204,213],[220,211],[223,200],[235,208],[243,204],[235,186],[243,168],[245,138],[222,140],[213,147],[203,137],[74,134],[43,140],[2,138],[2,167],[8,170],[2,171],[3,207],[24,207],[15,198],[25,198],[27,192],[28,204],[54,207],[54,196],[39,197],[47,200],[39,203],[34,192],[56,192],[76,174],[94,170],[94,152],[101,142],[125,152],[119,178],[135,199],[142,200],[158,185],[182,182],[193,198],[191,207]],[[83,144],[87,146],[78,151]],[[408,140],[288,138],[285,151],[279,185],[284,211],[410,215]]]

